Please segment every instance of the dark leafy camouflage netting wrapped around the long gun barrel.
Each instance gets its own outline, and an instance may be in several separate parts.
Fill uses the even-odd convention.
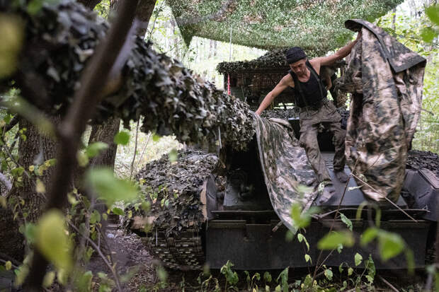
[[[0,11],[5,9],[0,6]],[[7,90],[15,79],[23,98],[40,110],[65,112],[108,24],[73,1],[45,5],[35,14],[12,8],[8,12],[24,18],[25,42],[16,76],[0,81],[0,88]],[[144,132],[163,125],[180,141],[213,145],[221,133],[222,144],[235,149],[245,148],[254,134],[246,103],[154,52],[141,37],[135,37],[121,74],[122,88],[98,105],[94,119],[99,122],[116,115],[128,127],[142,115]]]

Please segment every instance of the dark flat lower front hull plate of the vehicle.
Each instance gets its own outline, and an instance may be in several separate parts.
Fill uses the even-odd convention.
[[[286,228],[272,231],[273,224],[250,224],[245,220],[212,220],[206,231],[206,261],[212,269],[220,269],[228,259],[233,259],[234,269],[284,269],[285,267],[313,267],[319,257],[317,242],[329,232],[331,220],[312,222],[304,233],[310,250],[297,238],[288,242],[285,240]],[[336,222],[342,224],[341,221]],[[367,222],[353,221],[353,231],[358,236],[367,228]],[[429,221],[414,223],[409,220],[382,222],[382,228],[398,233],[404,238],[414,252],[416,267],[424,267]],[[372,255],[377,269],[405,269],[406,259],[399,255],[387,262],[380,262],[377,248],[369,245],[367,248],[354,245],[343,248],[341,253],[334,250],[326,259],[326,266],[338,267],[345,262],[349,267],[355,267],[354,256],[360,253],[363,259]],[[304,255],[312,258],[312,263],[306,262]],[[329,252],[324,252],[321,259],[325,259]],[[359,266],[362,267],[362,266]]]

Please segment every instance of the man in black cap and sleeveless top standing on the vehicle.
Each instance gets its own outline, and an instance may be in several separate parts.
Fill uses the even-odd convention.
[[[288,86],[293,88],[295,91],[295,105],[300,107],[300,146],[305,148],[309,163],[317,175],[318,182],[323,182],[325,185],[324,194],[321,197],[322,201],[329,199],[335,189],[317,143],[317,133],[320,127],[325,127],[333,133],[333,142],[336,148],[333,169],[337,179],[340,182],[347,182],[348,176],[344,173],[346,131],[341,129],[341,115],[338,114],[333,103],[329,103],[326,98],[327,90],[321,82],[319,72],[321,66],[330,66],[337,60],[346,57],[355,43],[358,42],[360,36],[360,33],[358,33],[356,40],[328,57],[317,57],[308,60],[307,55],[300,47],[289,49],[285,57],[291,70],[266,95],[258,110],[256,110],[256,114],[261,115],[261,112],[285,88]]]

